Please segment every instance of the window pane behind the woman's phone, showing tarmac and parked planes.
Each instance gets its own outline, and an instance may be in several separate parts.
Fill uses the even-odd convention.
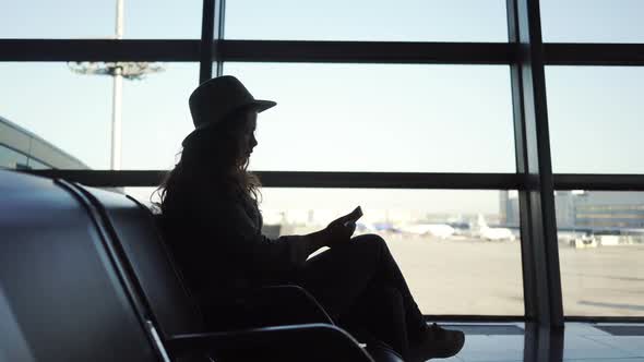
[[[126,188],[147,205],[154,190]],[[320,230],[360,205],[356,234],[387,241],[425,314],[523,315],[516,200],[516,191],[264,188],[260,208],[264,234],[277,237]]]

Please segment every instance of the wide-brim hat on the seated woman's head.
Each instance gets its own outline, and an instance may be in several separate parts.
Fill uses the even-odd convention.
[[[231,75],[217,76],[200,84],[188,100],[194,123],[192,131],[181,143],[183,146],[195,135],[220,123],[228,116],[242,109],[262,112],[277,105],[272,100],[255,99],[243,84]]]

